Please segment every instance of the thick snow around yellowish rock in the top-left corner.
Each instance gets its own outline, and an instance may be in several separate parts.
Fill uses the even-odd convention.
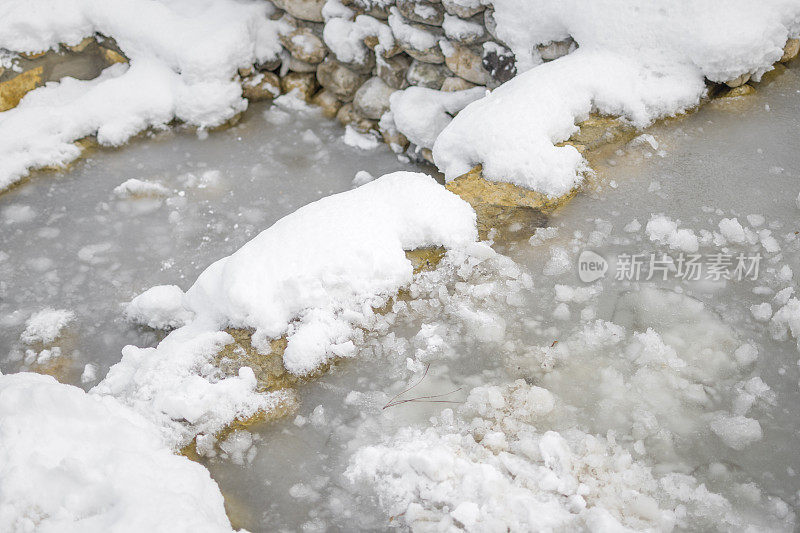
[[[48,83],[0,113],[0,190],[30,168],[74,160],[73,141],[91,134],[117,146],[174,118],[208,128],[244,110],[236,69],[280,51],[282,23],[268,19],[271,9],[233,0],[5,2],[0,48],[38,52],[101,33],[130,65]]]

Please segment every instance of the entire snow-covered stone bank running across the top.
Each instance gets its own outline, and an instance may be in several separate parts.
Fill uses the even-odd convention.
[[[487,183],[538,193],[522,202],[535,205],[582,183],[587,119],[633,131],[720,86],[746,95],[800,48],[800,8],[781,2],[33,3],[0,19],[0,189],[77,158],[87,136],[119,145],[175,118],[213,128],[236,120],[242,97],[294,92],[448,181],[481,165]]]

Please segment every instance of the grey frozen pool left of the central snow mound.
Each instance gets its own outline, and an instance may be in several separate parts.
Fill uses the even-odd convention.
[[[59,342],[64,357],[40,369],[81,384],[93,364],[102,379],[124,345],[156,339],[121,319],[122,303],[159,283],[188,287],[277,219],[351,188],[360,170],[411,168],[388,150],[345,145],[342,133],[314,110],[254,105],[205,139],[158,133],[2,195],[0,370],[31,367],[19,342],[31,313],[64,309],[75,314]]]

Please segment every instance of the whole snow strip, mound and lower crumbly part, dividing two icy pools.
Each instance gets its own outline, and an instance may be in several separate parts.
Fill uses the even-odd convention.
[[[129,313],[142,322],[194,318],[157,348],[127,346],[95,392],[149,413],[177,444],[278,409],[292,402],[289,392],[258,392],[247,366],[237,375],[214,366],[233,342],[223,329],[254,330],[252,344],[264,354],[285,336],[286,369],[308,374],[353,355],[375,309],[412,281],[405,250],[466,249],[476,239],[469,204],[423,174],[395,172],[318,200],[209,266],[183,298],[160,287],[138,297]]]

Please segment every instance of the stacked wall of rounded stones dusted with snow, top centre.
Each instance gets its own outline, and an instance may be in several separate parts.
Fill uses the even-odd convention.
[[[514,55],[494,31],[492,9],[480,0],[272,2],[273,18],[285,25],[284,53],[240,72],[245,96],[261,100],[297,90],[326,116],[362,133],[379,132],[398,152],[408,140],[391,121],[381,121],[393,92],[492,89],[516,74]],[[540,51],[552,60],[574,48],[569,39]]]

